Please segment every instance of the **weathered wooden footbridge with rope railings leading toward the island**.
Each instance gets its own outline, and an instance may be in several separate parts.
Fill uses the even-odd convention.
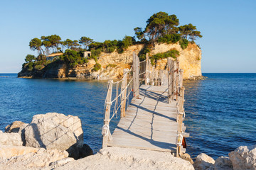
[[[148,149],[171,152],[177,157],[186,152],[183,71],[177,60],[167,61],[166,70],[157,70],[148,57],[139,62],[134,54],[132,68],[124,69],[123,78],[109,81],[103,148]],[[121,118],[111,135],[110,122],[119,113]]]

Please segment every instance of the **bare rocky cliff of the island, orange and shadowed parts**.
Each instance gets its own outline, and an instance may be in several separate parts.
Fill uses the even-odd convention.
[[[66,64],[54,64],[53,67],[45,69],[41,74],[27,74],[19,73],[19,77],[33,77],[33,78],[76,78],[76,79],[118,79],[122,77],[123,69],[130,68],[132,65],[132,54],[143,49],[144,45],[132,45],[124,50],[122,54],[114,51],[112,53],[102,52],[97,59],[97,63],[101,64],[101,69],[93,72],[96,62],[89,60],[89,62],[77,65],[75,68],[67,67]],[[184,70],[184,79],[193,79],[201,77],[201,49],[196,44],[189,44],[185,50],[181,49],[178,44],[156,44],[150,55],[155,55],[159,52],[166,52],[168,50],[176,49],[180,52],[178,60],[180,61],[180,68]],[[167,59],[158,60],[156,62],[156,69],[166,68]]]

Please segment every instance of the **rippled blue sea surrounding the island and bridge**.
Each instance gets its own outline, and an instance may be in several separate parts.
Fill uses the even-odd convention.
[[[184,81],[187,152],[214,159],[241,145],[256,145],[256,74],[203,74],[206,80]],[[0,74],[0,130],[48,112],[77,115],[84,142],[101,148],[107,81],[20,79]],[[118,119],[112,123],[112,130]]]

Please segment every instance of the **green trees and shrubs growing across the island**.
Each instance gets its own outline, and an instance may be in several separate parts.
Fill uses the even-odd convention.
[[[147,21],[145,28],[134,28],[135,36],[124,36],[122,40],[105,40],[104,42],[94,41],[92,38],[82,36],[79,40],[62,40],[59,35],[41,36],[33,38],[29,42],[29,47],[38,52],[38,56],[26,55],[25,63],[21,72],[41,72],[44,69],[66,64],[73,68],[78,64],[82,65],[89,60],[95,60],[96,64],[92,69],[97,72],[101,69],[97,58],[101,52],[122,53],[131,45],[144,45],[139,52],[140,60],[145,60],[146,53],[149,53],[156,43],[179,43],[182,49],[186,49],[189,43],[195,43],[197,38],[201,38],[201,32],[191,23],[178,26],[179,20],[176,15],[169,15],[165,12],[154,13]],[[84,57],[84,52],[90,51],[90,57]],[[55,54],[53,60],[48,60],[48,55]],[[175,49],[168,52],[150,56],[151,62],[156,62],[161,58],[178,57],[179,52]]]

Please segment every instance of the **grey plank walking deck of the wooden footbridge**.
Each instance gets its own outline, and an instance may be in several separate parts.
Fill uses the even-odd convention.
[[[132,99],[107,146],[176,152],[176,101],[168,103],[167,86],[139,89],[139,98]]]

